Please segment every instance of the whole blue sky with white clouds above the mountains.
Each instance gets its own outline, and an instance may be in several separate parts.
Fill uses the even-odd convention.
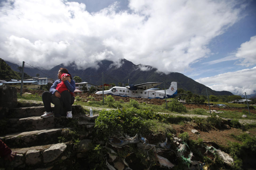
[[[255,0],[1,0],[0,32],[0,58],[13,63],[87,68],[125,58],[256,93]]]

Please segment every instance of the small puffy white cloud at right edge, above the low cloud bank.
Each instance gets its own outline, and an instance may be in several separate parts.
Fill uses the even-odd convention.
[[[246,41],[238,48],[236,57],[242,60],[239,65],[253,66],[256,64],[256,36],[250,38],[250,41]]]

